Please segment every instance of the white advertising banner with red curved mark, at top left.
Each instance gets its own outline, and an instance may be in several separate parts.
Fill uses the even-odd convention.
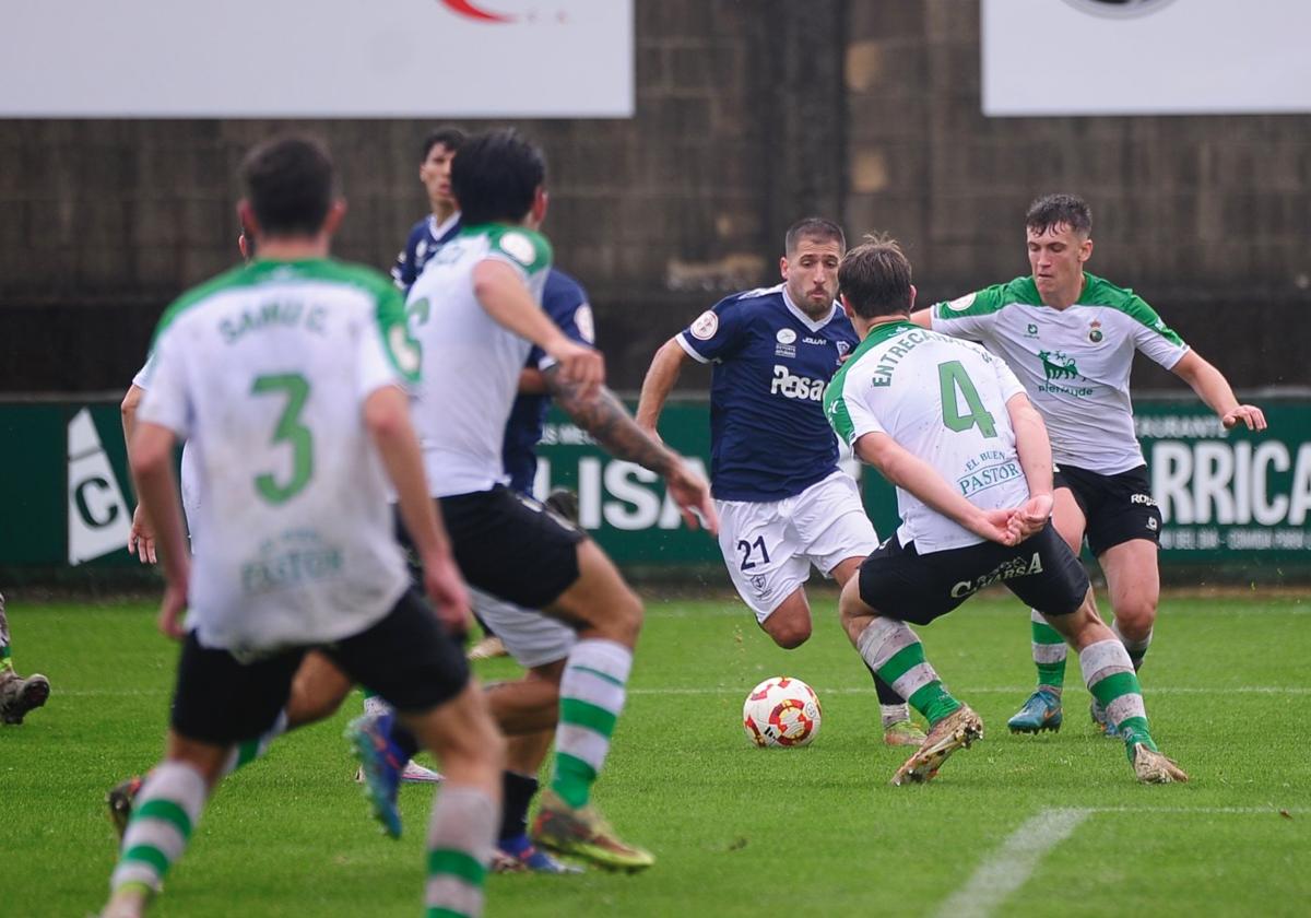
[[[627,118],[633,0],[0,4],[7,118]]]

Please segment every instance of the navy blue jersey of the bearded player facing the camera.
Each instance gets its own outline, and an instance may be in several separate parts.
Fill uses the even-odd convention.
[[[711,492],[724,501],[780,501],[838,468],[823,389],[859,340],[835,303],[819,321],[783,285],[716,303],[679,336],[711,375]]]

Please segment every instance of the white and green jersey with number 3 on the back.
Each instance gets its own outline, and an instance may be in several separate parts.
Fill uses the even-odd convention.
[[[139,418],[187,442],[207,497],[203,645],[321,644],[396,605],[409,581],[363,403],[417,371],[391,281],[326,258],[233,269],[164,313]]]

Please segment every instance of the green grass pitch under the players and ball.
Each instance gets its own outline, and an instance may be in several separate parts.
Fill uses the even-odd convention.
[[[637,876],[493,876],[489,915],[1311,914],[1311,601],[1167,598],[1143,670],[1154,733],[1192,783],[1141,787],[1096,736],[1071,661],[1059,734],[1012,737],[1032,681],[1028,614],[987,597],[922,628],[929,660],[987,724],[924,787],[888,779],[868,675],[815,598],[804,648],[773,648],[732,601],[658,602],[598,786],[649,846]],[[0,729],[0,914],[85,915],[114,837],[105,789],[160,754],[176,648],[146,603],[10,602],[14,658],[52,682]],[[493,661],[484,678],[513,666]],[[742,700],[776,674],[815,687],[813,746],[758,750]],[[366,817],[341,730],[277,744],[211,801],[155,914],[414,915],[431,789],[405,787],[405,837]]]

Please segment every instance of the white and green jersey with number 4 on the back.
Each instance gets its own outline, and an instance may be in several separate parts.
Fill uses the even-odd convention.
[[[975,506],[1020,506],[1029,485],[1006,403],[1024,392],[1006,363],[975,344],[909,321],[874,325],[823,395],[825,416],[855,447],[869,433],[893,438]],[[897,488],[901,544],[920,555],[983,539]]]

